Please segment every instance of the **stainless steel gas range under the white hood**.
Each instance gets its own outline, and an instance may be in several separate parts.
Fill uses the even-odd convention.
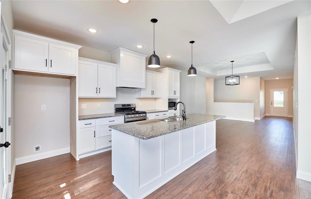
[[[124,114],[124,123],[147,120],[146,111],[136,110],[136,104],[115,104],[115,112]]]

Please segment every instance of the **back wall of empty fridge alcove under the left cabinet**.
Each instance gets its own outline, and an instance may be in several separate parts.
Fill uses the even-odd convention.
[[[17,164],[69,153],[69,79],[15,75],[14,92]]]

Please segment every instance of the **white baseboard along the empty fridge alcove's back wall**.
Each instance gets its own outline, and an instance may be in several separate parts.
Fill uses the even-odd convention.
[[[19,164],[24,164],[24,163],[30,163],[30,162],[34,162],[37,160],[42,160],[42,159],[46,159],[46,158],[51,158],[54,156],[59,156],[59,155],[63,155],[66,153],[70,153],[70,148],[61,148],[61,149],[57,149],[57,150],[53,150],[53,151],[48,151],[48,152],[44,152],[44,153],[39,153],[39,154],[35,154],[35,155],[30,155],[30,156],[24,156],[21,158],[16,158],[16,165]]]

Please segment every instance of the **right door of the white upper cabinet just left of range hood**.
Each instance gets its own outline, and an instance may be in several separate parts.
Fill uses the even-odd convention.
[[[116,67],[98,64],[98,97],[116,96]]]

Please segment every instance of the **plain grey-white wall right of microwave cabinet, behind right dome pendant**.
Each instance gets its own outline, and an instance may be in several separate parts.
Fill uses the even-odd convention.
[[[186,115],[206,114],[206,77],[189,77],[188,72],[180,72],[180,101],[186,105]],[[180,111],[183,107],[180,105]]]

